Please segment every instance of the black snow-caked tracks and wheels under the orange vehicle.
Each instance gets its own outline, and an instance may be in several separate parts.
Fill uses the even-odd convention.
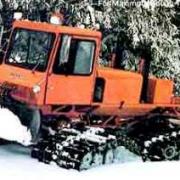
[[[160,117],[127,122],[120,128],[76,126],[43,137],[33,147],[32,157],[77,170],[121,161],[123,147],[143,161],[178,160],[179,137],[180,127]]]

